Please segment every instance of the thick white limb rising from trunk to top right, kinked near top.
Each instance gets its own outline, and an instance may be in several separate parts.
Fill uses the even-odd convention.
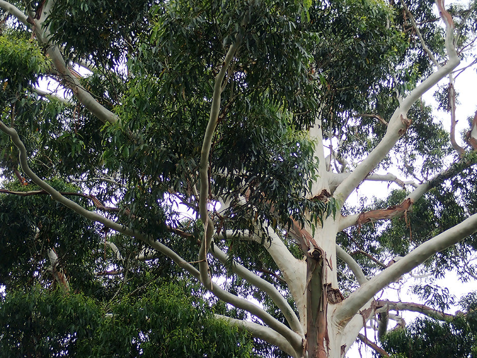
[[[456,66],[460,59],[453,45],[454,24],[452,17],[444,8],[443,0],[436,0],[436,5],[441,13],[441,18],[446,25],[445,46],[449,59],[447,63],[436,72],[427,77],[421,84],[414,88],[409,95],[404,98],[400,106],[394,111],[386,134],[379,144],[368,154],[368,156],[354,169],[354,171],[336,188],[335,198],[346,201],[351,192],[366,178],[366,176],[383,160],[383,158],[394,147],[396,142],[403,135],[411,121],[407,118],[407,112],[411,106],[431,87],[447,76]]]

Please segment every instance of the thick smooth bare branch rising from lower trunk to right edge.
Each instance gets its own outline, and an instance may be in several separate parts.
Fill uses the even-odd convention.
[[[341,307],[336,309],[335,319],[340,325],[346,326],[351,317],[363,307],[374,294],[394,282],[403,274],[425,262],[433,254],[454,245],[468,235],[477,232],[477,214],[473,214],[458,225],[434,236],[424,244],[419,245],[398,262],[392,264],[381,273],[375,275],[356,291],[352,292]]]

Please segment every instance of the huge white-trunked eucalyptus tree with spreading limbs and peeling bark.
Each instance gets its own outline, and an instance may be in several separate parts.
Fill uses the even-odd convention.
[[[430,304],[375,297],[416,271],[475,277],[477,114],[456,137],[453,87],[475,6],[0,0],[7,297],[50,282],[114,317],[195,280],[253,354],[310,358],[357,337],[386,355],[360,331],[385,337],[392,311],[447,319],[432,282]],[[449,130],[421,100],[443,79]],[[366,181],[389,197],[350,204]]]

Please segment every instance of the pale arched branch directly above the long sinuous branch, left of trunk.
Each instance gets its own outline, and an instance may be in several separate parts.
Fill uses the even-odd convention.
[[[223,265],[228,265],[230,257],[224,251],[218,248],[216,245],[211,250],[211,253]],[[305,336],[305,333],[303,332],[303,328],[300,324],[300,321],[298,320],[298,317],[293,312],[293,309],[290,307],[288,302],[285,300],[285,297],[283,297],[283,295],[279,292],[279,290],[276,289],[275,286],[273,286],[268,281],[265,281],[261,277],[257,276],[256,274],[251,272],[249,269],[247,269],[246,267],[242,266],[241,264],[237,262],[233,262],[231,268],[233,272],[235,272],[238,276],[242,277],[248,283],[254,285],[255,287],[267,293],[270,299],[276,305],[276,307],[278,307],[280,311],[283,313],[291,329]]]

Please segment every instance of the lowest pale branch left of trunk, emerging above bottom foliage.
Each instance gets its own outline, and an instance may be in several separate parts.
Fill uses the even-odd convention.
[[[285,340],[285,338],[274,330],[259,325],[254,322],[236,320],[231,317],[223,316],[221,314],[214,314],[217,319],[226,321],[230,326],[238,327],[241,330],[247,330],[256,338],[264,340],[271,345],[279,347],[281,350],[291,355],[294,358],[299,358],[300,355],[293,349],[293,347]]]

